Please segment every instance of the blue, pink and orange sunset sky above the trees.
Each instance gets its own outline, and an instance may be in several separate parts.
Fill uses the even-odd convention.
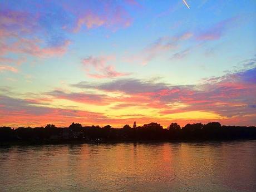
[[[0,0],[0,125],[256,125],[256,1]]]

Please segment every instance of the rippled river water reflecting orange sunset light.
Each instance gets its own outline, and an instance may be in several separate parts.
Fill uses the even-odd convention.
[[[0,191],[255,191],[256,141],[0,148]]]

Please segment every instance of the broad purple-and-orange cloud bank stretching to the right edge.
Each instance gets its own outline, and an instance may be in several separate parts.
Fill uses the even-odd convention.
[[[165,115],[205,111],[231,118],[256,113],[253,107],[249,107],[256,102],[255,70],[256,68],[252,68],[210,78],[201,85],[174,86],[163,82],[124,78],[105,83],[80,82],[72,86],[126,94],[126,97],[116,98],[116,102],[121,104],[114,106],[115,109],[136,105],[161,110],[161,114]]]

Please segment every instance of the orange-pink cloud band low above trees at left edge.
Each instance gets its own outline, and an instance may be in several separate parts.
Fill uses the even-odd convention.
[[[68,126],[72,122],[95,124],[106,116],[99,112],[37,106],[37,103],[0,95],[0,122],[7,126]]]

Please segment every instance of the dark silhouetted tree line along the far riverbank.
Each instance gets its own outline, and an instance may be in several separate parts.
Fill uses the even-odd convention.
[[[235,140],[256,139],[255,126],[225,126],[219,122],[208,124],[186,124],[180,127],[171,123],[167,129],[151,122],[143,126],[130,127],[124,125],[121,129],[110,125],[82,126],[74,122],[69,127],[0,127],[0,142],[105,142],[105,141],[198,141],[198,140]]]

